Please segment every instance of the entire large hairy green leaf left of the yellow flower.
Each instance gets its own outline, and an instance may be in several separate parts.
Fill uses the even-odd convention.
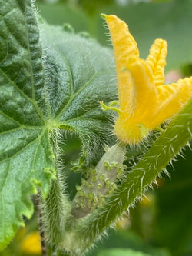
[[[39,36],[36,20],[31,0],[0,0],[0,248],[31,217],[36,185],[45,196],[55,177],[51,130],[95,150],[109,141],[99,101],[116,96],[111,52],[48,25]]]

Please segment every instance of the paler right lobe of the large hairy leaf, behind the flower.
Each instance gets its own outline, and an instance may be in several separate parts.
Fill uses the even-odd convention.
[[[62,27],[43,25],[42,38],[48,48],[45,68],[51,118],[59,128],[78,134],[88,158],[96,153],[98,157],[101,146],[113,141],[111,112],[102,111],[99,103],[117,95],[112,52]]]

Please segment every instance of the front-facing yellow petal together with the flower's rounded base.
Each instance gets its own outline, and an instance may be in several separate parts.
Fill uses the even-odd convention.
[[[157,102],[157,88],[154,87],[151,68],[144,60],[129,58],[126,68],[124,72],[130,75],[130,95],[124,98],[121,91],[126,108],[115,121],[114,133],[120,141],[134,145],[147,134],[148,120]]]

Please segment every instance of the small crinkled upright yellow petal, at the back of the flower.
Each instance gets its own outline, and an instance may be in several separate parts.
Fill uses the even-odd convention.
[[[156,39],[151,46],[147,57],[147,63],[151,66],[154,74],[154,85],[164,85],[164,66],[166,65],[167,42]]]

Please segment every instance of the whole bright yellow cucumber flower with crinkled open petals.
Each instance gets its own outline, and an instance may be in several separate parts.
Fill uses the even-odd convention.
[[[119,107],[114,133],[125,144],[140,142],[149,131],[172,118],[192,96],[192,77],[164,85],[167,42],[156,39],[146,60],[125,22],[102,15],[107,22],[118,79]]]

